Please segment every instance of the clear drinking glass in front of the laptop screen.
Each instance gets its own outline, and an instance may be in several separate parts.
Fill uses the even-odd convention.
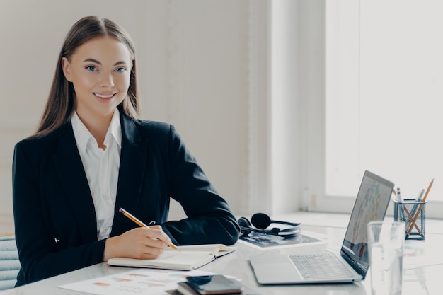
[[[372,295],[401,295],[405,223],[371,221],[367,233]]]

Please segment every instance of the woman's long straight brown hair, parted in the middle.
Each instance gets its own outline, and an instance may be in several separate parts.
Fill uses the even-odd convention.
[[[139,118],[135,48],[130,35],[120,25],[107,18],[86,16],[71,27],[64,39],[50,94],[34,136],[41,137],[50,134],[71,120],[76,106],[75,92],[72,83],[64,77],[62,57],[69,60],[80,45],[97,37],[113,37],[125,44],[130,51],[132,55],[130,86],[126,98],[119,105],[119,109],[134,120]]]

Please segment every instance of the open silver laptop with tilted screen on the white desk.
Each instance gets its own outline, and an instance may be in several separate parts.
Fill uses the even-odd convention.
[[[389,180],[364,171],[340,253],[320,250],[309,254],[253,255],[249,260],[257,281],[260,284],[312,284],[364,279],[369,268],[367,224],[384,219],[393,186]]]

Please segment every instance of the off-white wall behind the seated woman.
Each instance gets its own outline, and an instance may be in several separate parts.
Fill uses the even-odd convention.
[[[142,117],[176,125],[236,214],[270,212],[269,9],[266,0],[0,0],[0,223],[12,220],[13,146],[40,118],[67,30],[91,14],[134,38]]]

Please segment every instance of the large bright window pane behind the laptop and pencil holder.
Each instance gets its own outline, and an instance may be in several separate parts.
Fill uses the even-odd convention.
[[[322,200],[355,197],[367,169],[405,198],[434,178],[428,216],[443,206],[442,9],[437,0],[326,1]]]

